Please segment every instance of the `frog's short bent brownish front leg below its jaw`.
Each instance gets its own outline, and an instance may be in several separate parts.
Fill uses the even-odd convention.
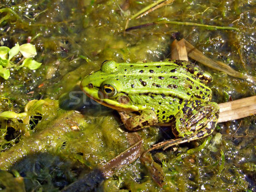
[[[121,116],[122,122],[125,124],[125,128],[129,131],[147,128],[158,122],[156,113],[149,109],[139,111],[140,115],[136,116],[130,116],[129,114],[120,111],[118,113]]]

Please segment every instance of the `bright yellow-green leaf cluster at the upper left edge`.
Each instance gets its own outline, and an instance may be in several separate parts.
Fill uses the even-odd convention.
[[[23,62],[21,65],[15,64],[12,60],[15,55],[21,53],[23,56]],[[34,45],[32,44],[22,44],[18,43],[10,49],[9,47],[1,46],[0,47],[0,76],[3,79],[8,79],[10,77],[9,68],[20,68],[27,67],[31,70],[35,70],[41,66],[42,63],[39,63],[32,58],[37,54]]]

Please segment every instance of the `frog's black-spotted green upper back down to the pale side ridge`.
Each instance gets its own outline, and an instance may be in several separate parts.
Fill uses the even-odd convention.
[[[209,101],[212,95],[209,87],[194,73],[170,62],[120,63],[115,77],[123,82],[122,91],[127,94],[160,94],[183,100],[205,101]]]

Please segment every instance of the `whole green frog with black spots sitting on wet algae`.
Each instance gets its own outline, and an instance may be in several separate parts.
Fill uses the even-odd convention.
[[[151,175],[163,183],[159,166],[148,153],[198,140],[212,134],[219,107],[207,86],[212,76],[189,61],[117,63],[105,61],[100,70],[81,81],[91,99],[118,111],[125,128],[137,131],[153,125],[169,126],[176,139],[154,144],[144,154]]]

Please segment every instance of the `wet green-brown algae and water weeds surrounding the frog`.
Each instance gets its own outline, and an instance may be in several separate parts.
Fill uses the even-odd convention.
[[[151,4],[0,2],[0,46],[29,42],[37,50],[35,61],[42,63],[36,70],[10,67],[9,78],[0,75],[0,191],[64,189],[131,146],[118,114],[92,102],[78,86],[105,60],[160,61],[169,58],[175,38],[185,38],[207,57],[256,76],[255,2],[175,0],[141,15],[140,10]],[[155,23],[160,18],[166,19]],[[133,26],[140,27],[125,32]],[[20,56],[0,57],[0,66],[3,60],[21,64]],[[200,67],[213,76],[209,86],[215,102],[256,95],[255,83]],[[162,189],[137,159],[116,170],[96,191],[255,191],[255,132],[255,116],[218,123],[212,137],[154,153],[165,175]],[[166,127],[137,133],[145,149],[174,138]]]

